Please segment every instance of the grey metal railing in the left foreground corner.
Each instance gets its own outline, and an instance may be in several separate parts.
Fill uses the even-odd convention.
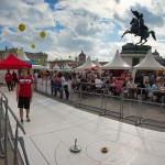
[[[10,142],[11,150],[13,151],[12,164],[20,165],[21,163],[18,158],[18,142],[20,142],[20,145],[22,147],[22,152],[24,155],[25,164],[29,165],[30,163],[29,163],[28,155],[25,152],[23,138],[19,136],[19,129],[21,129],[21,131],[25,134],[24,128],[22,123],[20,122],[19,118],[9,107],[9,100],[6,97],[6,95],[3,95],[2,91],[0,91],[0,95],[1,95],[0,96],[0,140],[1,140],[0,158],[4,160],[4,165],[9,165],[9,156],[11,156],[9,155],[9,142]],[[14,135],[12,133],[9,116],[11,116],[15,121]],[[11,165],[11,162],[10,162],[10,165]]]

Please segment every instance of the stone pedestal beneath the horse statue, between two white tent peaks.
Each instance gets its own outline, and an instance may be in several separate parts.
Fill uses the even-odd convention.
[[[145,58],[147,51],[151,48],[152,47],[148,45],[134,45],[132,43],[128,43],[122,46],[120,55],[130,66],[135,66]]]

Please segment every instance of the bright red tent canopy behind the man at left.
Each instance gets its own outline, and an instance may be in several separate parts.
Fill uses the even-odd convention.
[[[32,68],[32,65],[20,61],[14,55],[9,55],[4,61],[0,62],[0,69],[20,69],[22,66]]]

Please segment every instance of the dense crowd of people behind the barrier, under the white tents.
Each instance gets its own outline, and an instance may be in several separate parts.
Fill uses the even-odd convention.
[[[163,101],[162,99],[165,95],[165,76],[162,73],[156,74],[154,72],[138,73],[134,79],[129,72],[123,72],[119,77],[110,72],[79,74],[75,72],[61,73],[47,70],[44,75],[37,74],[37,77],[51,79],[52,95],[56,96],[59,92],[59,97],[63,98],[63,91],[65,91],[66,99],[69,97],[68,81],[70,81],[74,90],[107,94],[110,96],[121,96],[123,94],[123,97],[129,99],[139,99],[139,96],[142,96],[144,100],[158,103]]]

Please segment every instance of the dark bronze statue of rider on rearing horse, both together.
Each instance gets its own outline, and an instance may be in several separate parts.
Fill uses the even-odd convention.
[[[133,18],[130,22],[131,29],[127,30],[121,37],[123,37],[125,34],[129,33],[134,34],[135,36],[140,36],[141,40],[135,45],[145,44],[147,42],[146,38],[150,36],[150,34],[152,34],[152,37],[156,41],[155,32],[148,31],[148,28],[144,24],[143,14],[139,13],[138,11],[133,11],[133,10],[131,11],[135,15],[135,18]],[[142,42],[143,40],[144,42]]]

